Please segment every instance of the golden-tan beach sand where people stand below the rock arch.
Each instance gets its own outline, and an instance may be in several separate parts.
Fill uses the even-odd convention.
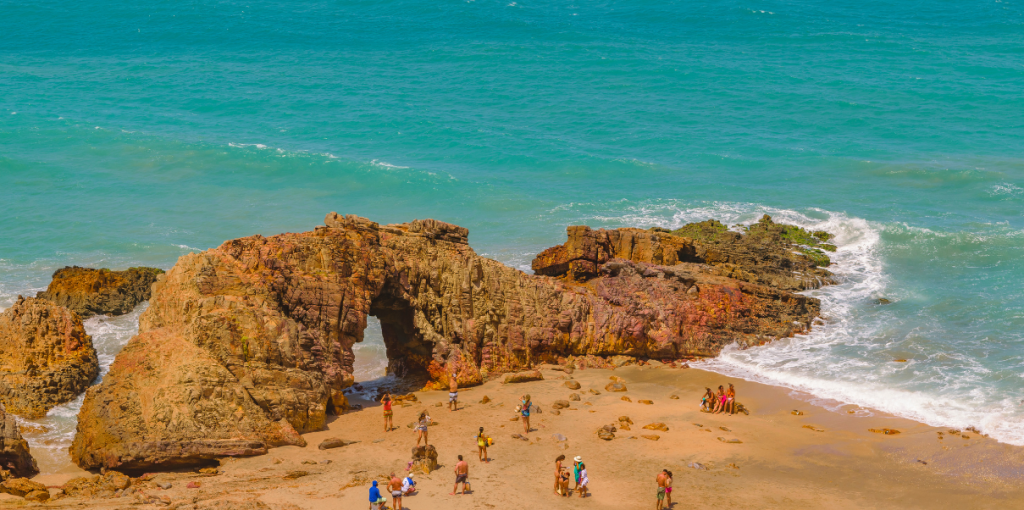
[[[395,408],[397,429],[386,433],[379,405],[354,400],[365,408],[333,417],[327,430],[305,434],[306,448],[279,448],[266,456],[227,460],[213,476],[191,471],[160,473],[154,480],[170,481],[172,488],[154,486],[145,492],[169,498],[171,507],[180,508],[227,501],[260,501],[282,509],[368,508],[370,479],[383,480],[390,472],[404,475],[416,444],[416,433],[408,424],[426,410],[436,422],[430,427],[430,442],[437,449],[440,466],[430,474],[416,475],[419,491],[403,500],[403,507],[411,510],[653,509],[654,477],[662,469],[674,473],[673,508],[677,509],[1024,507],[1024,449],[974,432],[951,434],[948,429],[856,407],[828,411],[784,388],[696,369],[634,366],[577,370],[571,376],[555,370],[542,372],[544,381],[502,384],[495,380],[464,388],[462,407],[454,413],[446,408],[446,392],[417,392],[419,402]],[[611,376],[625,379],[628,391],[606,391]],[[582,388],[568,389],[568,378]],[[737,399],[750,416],[700,413],[703,388],[730,382],[736,385]],[[568,399],[573,392],[581,401],[553,414],[552,403]],[[529,441],[512,438],[523,431],[521,423],[513,421],[523,393],[529,393],[542,410],[531,417]],[[679,399],[670,398],[673,394]],[[490,401],[479,403],[484,395]],[[653,403],[639,403],[641,399]],[[436,407],[437,402],[445,407]],[[803,415],[794,415],[795,410]],[[621,416],[632,419],[632,430],[615,432],[610,441],[598,438],[597,429],[617,425]],[[665,423],[669,430],[642,428],[654,422]],[[474,436],[480,426],[496,441],[488,451],[489,464],[477,460]],[[868,431],[871,428],[900,433],[885,435]],[[938,432],[943,432],[942,438]],[[567,440],[558,441],[554,434]],[[647,434],[659,438],[642,437]],[[328,437],[358,442],[317,450]],[[587,464],[589,498],[554,495],[554,460],[560,454],[566,456],[568,466],[574,456]],[[469,462],[472,492],[450,496],[458,455]],[[322,463],[326,460],[330,464]],[[691,463],[707,469],[690,467]],[[285,479],[289,472],[299,470],[308,474]],[[85,474],[73,471],[36,479],[58,485]],[[199,481],[201,486],[186,488],[189,481]],[[119,508],[130,505],[128,500],[63,499],[46,506],[80,507],[84,503],[90,508]],[[0,499],[0,505],[18,504],[22,500],[13,497]]]

